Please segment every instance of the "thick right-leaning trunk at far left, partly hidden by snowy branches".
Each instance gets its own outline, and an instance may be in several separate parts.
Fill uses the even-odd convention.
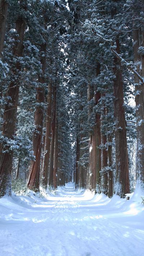
[[[16,22],[17,37],[15,38],[15,46],[13,55],[21,57],[23,54],[23,37],[26,23],[22,17],[19,17]],[[8,102],[4,111],[3,136],[8,139],[13,139],[15,131],[15,122],[17,116],[18,96],[19,96],[19,76],[17,70],[21,71],[21,65],[16,62],[13,70],[14,77],[9,84],[7,96]],[[0,197],[4,195],[11,196],[12,183],[12,161],[13,152],[9,151],[9,145],[6,143],[0,144]]]

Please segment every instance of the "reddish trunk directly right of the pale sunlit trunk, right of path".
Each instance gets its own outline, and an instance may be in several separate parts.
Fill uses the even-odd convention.
[[[97,64],[96,68],[96,76],[100,74],[100,64]],[[95,99],[95,105],[99,103],[100,99],[100,93],[96,90],[94,99]],[[96,189],[95,193],[101,193],[100,191],[100,170],[101,170],[101,151],[99,149],[99,146],[101,144],[101,131],[100,131],[100,114],[96,113],[95,117],[95,168],[96,168]]]

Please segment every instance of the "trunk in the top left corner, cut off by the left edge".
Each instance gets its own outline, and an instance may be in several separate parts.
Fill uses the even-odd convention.
[[[2,52],[4,48],[6,18],[8,14],[8,2],[5,0],[0,1],[0,58],[2,58]]]

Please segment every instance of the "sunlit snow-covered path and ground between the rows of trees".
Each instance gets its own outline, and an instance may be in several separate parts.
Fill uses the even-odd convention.
[[[0,256],[142,256],[144,206],[59,187],[47,198],[0,199]]]

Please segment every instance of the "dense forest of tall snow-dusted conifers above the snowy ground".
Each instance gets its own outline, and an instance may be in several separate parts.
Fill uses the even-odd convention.
[[[0,1],[0,197],[144,187],[144,1]]]

